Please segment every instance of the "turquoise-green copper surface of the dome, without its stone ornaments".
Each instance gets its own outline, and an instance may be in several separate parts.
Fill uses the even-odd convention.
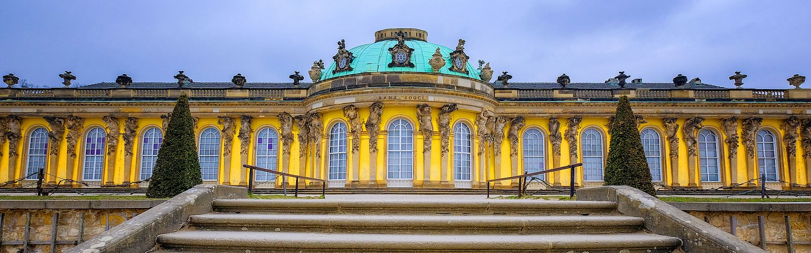
[[[433,54],[436,52],[436,48],[440,49],[442,58],[444,58],[445,60],[445,65],[440,68],[441,74],[459,75],[469,77],[472,79],[480,79],[476,67],[470,64],[470,60],[468,60],[466,68],[468,74],[448,70],[448,67],[451,66],[451,60],[449,55],[451,54],[451,52],[453,52],[453,49],[449,49],[448,47],[445,47],[443,45],[437,45],[434,43],[410,37],[405,38],[405,45],[408,45],[411,49],[414,49],[414,53],[411,54],[411,63],[414,63],[414,67],[405,67],[405,66],[389,67],[388,63],[392,62],[392,54],[388,53],[388,49],[393,47],[394,45],[397,45],[397,40],[395,38],[392,39],[378,38],[378,41],[375,43],[358,45],[350,49],[350,52],[352,52],[354,56],[354,60],[350,64],[350,66],[352,66],[353,68],[352,71],[343,71],[333,74],[333,70],[336,67],[335,62],[333,61],[324,71],[322,71],[321,79],[324,80],[338,76],[354,75],[360,73],[371,73],[371,72],[433,73],[434,71],[431,70],[431,65],[428,64],[428,62],[431,61]]]

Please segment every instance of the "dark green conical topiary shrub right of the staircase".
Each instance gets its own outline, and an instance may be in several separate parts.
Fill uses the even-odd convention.
[[[607,186],[629,186],[656,195],[645,149],[637,129],[637,118],[628,96],[620,97],[611,125],[611,144],[605,171]]]

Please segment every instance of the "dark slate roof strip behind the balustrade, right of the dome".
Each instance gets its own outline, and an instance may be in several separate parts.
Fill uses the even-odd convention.
[[[499,83],[493,84],[494,88],[560,88],[560,84],[558,83],[509,83],[508,85],[504,85]],[[566,85],[566,88],[594,88],[594,89],[601,89],[601,88],[620,88],[618,84],[607,84],[607,83],[571,83]],[[625,88],[650,88],[650,89],[671,89],[676,88],[676,84],[673,83],[642,83],[642,84],[625,84]],[[726,87],[721,87],[712,84],[684,84],[679,88],[683,89],[727,89]]]

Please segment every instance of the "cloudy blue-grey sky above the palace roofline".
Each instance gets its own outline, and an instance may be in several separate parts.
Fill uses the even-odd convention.
[[[466,40],[513,82],[671,82],[677,74],[734,87],[792,88],[811,75],[811,1],[2,1],[0,75],[28,84],[289,82],[333,62],[336,41],[374,42],[384,28],[420,28],[453,48]],[[307,76],[307,75],[305,75]],[[307,79],[309,81],[309,79]],[[805,84],[805,86],[811,85]]]

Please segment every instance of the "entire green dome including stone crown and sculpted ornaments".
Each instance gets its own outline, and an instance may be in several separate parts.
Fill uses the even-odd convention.
[[[439,73],[480,79],[479,71],[464,55],[465,41],[459,40],[457,49],[451,49],[428,42],[427,38],[428,33],[420,29],[388,28],[375,32],[374,43],[358,45],[352,49],[343,49],[345,41],[341,40],[338,42],[338,54],[322,71],[321,80],[374,72]],[[431,59],[435,58],[437,49],[444,65],[438,62],[440,58],[436,58],[432,66]],[[452,55],[461,57],[457,59]]]

